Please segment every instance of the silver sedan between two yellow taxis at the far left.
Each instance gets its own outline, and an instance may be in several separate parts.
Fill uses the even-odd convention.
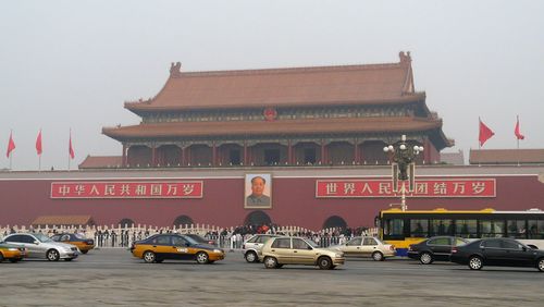
[[[47,259],[49,261],[64,259],[70,261],[79,255],[76,246],[54,242],[41,233],[14,233],[4,237],[4,241],[26,247],[27,258]]]

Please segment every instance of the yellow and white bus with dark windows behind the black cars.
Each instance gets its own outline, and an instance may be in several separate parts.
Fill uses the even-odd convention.
[[[376,218],[380,237],[395,245],[398,256],[406,256],[410,244],[435,235],[466,238],[512,237],[544,248],[544,211],[433,210],[380,211]]]

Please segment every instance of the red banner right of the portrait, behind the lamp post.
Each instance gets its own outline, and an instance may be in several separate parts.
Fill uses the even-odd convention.
[[[393,191],[391,180],[318,180],[316,182],[317,198],[360,198],[360,197],[398,197],[400,188]],[[494,179],[447,179],[417,180],[413,192],[408,197],[495,197]]]

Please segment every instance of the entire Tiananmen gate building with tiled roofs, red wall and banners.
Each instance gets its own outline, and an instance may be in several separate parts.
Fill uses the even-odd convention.
[[[383,148],[400,135],[424,147],[409,209],[544,209],[541,163],[441,163],[454,140],[416,90],[405,52],[366,65],[183,72],[172,63],[153,98],[124,107],[141,122],[102,130],[121,143],[120,156],[88,156],[77,171],[0,172],[0,225],[66,216],[157,226],[372,226],[399,202]]]

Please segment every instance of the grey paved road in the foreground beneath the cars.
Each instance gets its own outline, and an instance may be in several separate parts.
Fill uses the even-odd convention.
[[[239,253],[199,266],[146,265],[124,249],[91,250],[72,262],[0,263],[0,306],[542,306],[536,269],[421,266],[411,260],[349,260],[267,270]]]

